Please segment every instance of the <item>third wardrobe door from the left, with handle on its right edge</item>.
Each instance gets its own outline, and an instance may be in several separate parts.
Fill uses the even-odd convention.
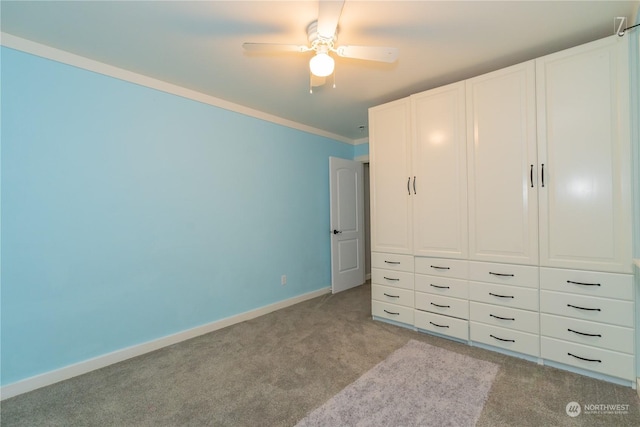
[[[538,263],[535,64],[467,81],[469,258]]]

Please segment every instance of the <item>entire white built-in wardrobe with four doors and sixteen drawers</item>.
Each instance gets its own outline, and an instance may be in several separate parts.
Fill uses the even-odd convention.
[[[372,313],[635,384],[628,38],[369,110]]]

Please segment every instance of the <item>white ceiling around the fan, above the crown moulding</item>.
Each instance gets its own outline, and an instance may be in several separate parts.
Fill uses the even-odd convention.
[[[309,93],[317,1],[6,1],[5,33],[339,135],[368,136],[367,109],[614,34],[640,1],[350,1],[337,44],[392,46],[394,64],[336,59],[336,88]],[[365,126],[364,129],[360,129]]]

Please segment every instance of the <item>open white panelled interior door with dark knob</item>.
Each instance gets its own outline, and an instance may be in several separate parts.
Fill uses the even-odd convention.
[[[331,291],[364,283],[364,186],[362,163],[329,158]]]

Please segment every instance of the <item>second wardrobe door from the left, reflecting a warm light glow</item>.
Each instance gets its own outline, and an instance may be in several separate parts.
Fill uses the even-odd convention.
[[[413,253],[466,258],[464,82],[411,96]]]

